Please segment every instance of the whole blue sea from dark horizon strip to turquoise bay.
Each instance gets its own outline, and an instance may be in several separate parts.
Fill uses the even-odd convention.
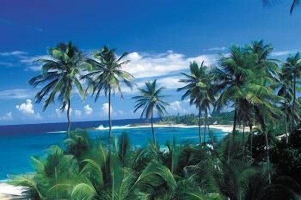
[[[156,119],[155,121],[158,121]],[[146,120],[127,119],[112,122],[112,135],[118,138],[127,132],[130,144],[143,147],[152,141],[152,131],[149,127],[130,124],[145,123]],[[45,150],[51,145],[62,145],[66,138],[66,123],[28,124],[0,126],[0,180],[8,179],[10,175],[18,175],[33,171],[30,157],[43,157]],[[108,121],[73,122],[71,129],[87,129],[93,138],[106,138],[108,136]],[[210,129],[215,140],[222,139],[227,133],[220,129]],[[178,143],[198,143],[198,128],[188,127],[156,127],[155,134],[160,145],[176,138]],[[209,140],[209,136],[206,136]]]

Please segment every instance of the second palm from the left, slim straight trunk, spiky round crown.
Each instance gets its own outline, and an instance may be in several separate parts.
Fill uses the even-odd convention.
[[[108,96],[108,117],[109,117],[109,139],[111,138],[111,95],[117,90],[121,97],[121,82],[126,86],[132,88],[134,77],[121,69],[123,65],[129,62],[129,60],[122,61],[127,55],[124,52],[119,58],[115,54],[115,49],[109,49],[104,46],[99,52],[95,54],[95,58],[88,59],[88,62],[92,65],[93,69],[83,78],[88,80],[88,88],[92,88],[93,94],[95,94],[95,101],[97,101],[100,93],[104,90],[106,96]]]

